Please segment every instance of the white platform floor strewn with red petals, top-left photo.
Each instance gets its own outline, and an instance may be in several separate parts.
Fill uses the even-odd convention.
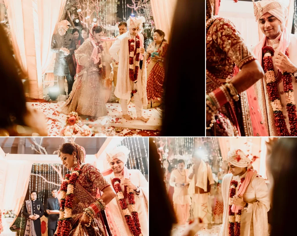
[[[48,136],[62,136],[61,131],[66,125],[66,116],[61,113],[61,107],[64,102],[52,103],[52,102],[27,102],[27,106],[40,110],[47,118],[47,129]],[[136,118],[136,110],[134,104],[129,104],[129,114]],[[99,118],[95,121],[90,121],[89,123],[98,126],[113,126],[115,128],[122,128],[126,131],[136,130],[132,132],[133,136],[158,136],[159,130],[161,130],[162,123],[162,110],[159,108],[151,108],[143,110],[143,115],[149,118],[148,122],[143,122],[140,120],[127,121],[123,118],[121,111],[121,106],[119,103],[106,103],[106,108],[108,110],[108,115]],[[82,117],[82,119],[84,119]],[[112,121],[113,120],[113,121]],[[124,132],[127,134],[129,132]],[[130,134],[130,133],[129,133]],[[129,135],[128,134],[128,135]]]

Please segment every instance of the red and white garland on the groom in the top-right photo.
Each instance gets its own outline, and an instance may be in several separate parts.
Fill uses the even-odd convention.
[[[292,76],[288,72],[282,72],[281,80],[284,85],[284,92],[286,95],[287,113],[290,124],[290,133],[287,129],[285,117],[282,111],[282,104],[279,99],[277,83],[279,82],[274,76],[274,67],[272,62],[272,56],[274,50],[272,47],[265,46],[262,48],[264,53],[264,72],[267,82],[267,91],[270,99],[271,107],[274,114],[274,124],[277,126],[277,132],[279,136],[297,136],[297,114],[296,114],[296,103],[294,99],[294,91],[292,85]],[[289,57],[289,50],[286,49],[286,56]]]

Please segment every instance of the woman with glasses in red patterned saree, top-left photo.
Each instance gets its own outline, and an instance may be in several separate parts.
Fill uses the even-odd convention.
[[[165,77],[164,58],[168,43],[164,39],[165,33],[162,30],[155,30],[154,42],[146,49],[148,59],[146,60],[146,94],[148,98],[147,108],[157,107],[162,103],[163,82]]]

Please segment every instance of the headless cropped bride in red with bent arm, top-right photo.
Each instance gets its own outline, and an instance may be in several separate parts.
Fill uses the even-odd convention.
[[[206,0],[206,135],[267,136],[251,87],[263,69],[233,23],[217,16],[219,3]]]

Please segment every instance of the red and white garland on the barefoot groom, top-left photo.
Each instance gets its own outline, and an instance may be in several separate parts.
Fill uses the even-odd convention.
[[[139,56],[140,56],[140,39],[139,39],[139,36],[136,35],[136,57],[135,57],[135,61],[134,61],[135,40],[134,39],[129,39],[128,43],[129,43],[129,77],[130,77],[130,80],[133,83],[136,83],[137,78],[138,78]],[[132,93],[133,94],[136,93],[135,88],[132,90]]]

